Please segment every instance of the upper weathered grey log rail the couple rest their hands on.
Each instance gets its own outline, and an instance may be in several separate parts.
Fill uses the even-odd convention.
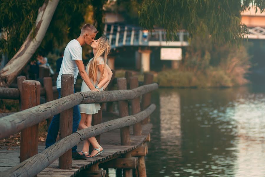
[[[152,83],[132,90],[88,91],[64,96],[63,98],[2,117],[0,119],[0,139],[19,132],[24,128],[31,127],[78,104],[132,100],[157,88],[158,84]]]

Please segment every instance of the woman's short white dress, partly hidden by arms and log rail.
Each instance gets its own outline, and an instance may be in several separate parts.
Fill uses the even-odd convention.
[[[88,64],[92,60],[93,59],[89,60]],[[87,73],[89,71],[88,64],[87,64],[87,67],[86,67],[86,72]],[[104,65],[104,58],[103,57],[100,56],[100,57],[97,58],[97,65]],[[99,79],[100,79],[100,71],[97,70],[97,80],[99,80]],[[96,86],[98,84],[98,82],[94,83],[91,78],[90,78],[90,81],[92,82],[92,84],[94,86]],[[103,87],[100,88],[99,90],[103,91]],[[81,86],[81,92],[83,92],[83,91],[91,91],[84,81],[82,82],[82,86]],[[80,109],[80,113],[85,113],[85,114],[96,114],[100,110],[100,104],[99,103],[79,104],[78,106],[79,106],[79,109]]]

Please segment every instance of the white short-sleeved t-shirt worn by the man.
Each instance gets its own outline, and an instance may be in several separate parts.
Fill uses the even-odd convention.
[[[62,74],[74,75],[75,84],[79,72],[75,60],[82,60],[82,47],[77,40],[73,39],[67,44],[64,50],[64,57],[56,82],[57,89],[61,88]]]

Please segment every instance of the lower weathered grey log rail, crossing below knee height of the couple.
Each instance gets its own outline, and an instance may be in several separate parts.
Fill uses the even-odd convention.
[[[116,130],[125,126],[130,126],[141,122],[148,117],[155,110],[155,105],[151,104],[147,109],[138,114],[131,116],[114,119],[108,122],[94,125],[92,127],[79,130],[73,134],[63,138],[56,142],[54,145],[43,150],[41,153],[28,158],[27,160],[19,163],[3,173],[0,176],[34,176],[41,172],[44,168],[49,166],[57,158],[63,155],[67,150],[77,145],[80,141],[88,139],[90,137],[100,135],[102,133]],[[42,164],[42,165],[38,165]]]

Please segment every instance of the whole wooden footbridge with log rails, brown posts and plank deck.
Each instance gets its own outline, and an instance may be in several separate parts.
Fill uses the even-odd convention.
[[[152,83],[150,73],[145,74],[144,85],[139,87],[138,78],[131,72],[126,72],[126,78],[115,79],[113,75],[109,91],[73,94],[73,76],[62,75],[62,98],[55,100],[50,77],[44,77],[43,88],[39,81],[24,76],[17,78],[17,89],[0,88],[1,99],[19,99],[22,109],[0,115],[1,139],[21,131],[20,148],[0,150],[0,176],[95,177],[106,176],[108,168],[116,168],[117,176],[146,176],[145,155],[152,127],[149,116],[155,110],[155,105],[150,104],[150,91],[158,84]],[[119,90],[112,90],[114,80]],[[46,103],[39,104],[41,96],[45,96]],[[113,101],[118,101],[119,114],[111,111]],[[102,114],[101,110],[93,115],[92,127],[72,133],[72,107],[89,103],[107,103],[107,112]],[[43,144],[38,145],[38,124],[59,113],[60,140],[44,149]],[[104,153],[87,160],[72,160],[72,147],[93,136]]]

